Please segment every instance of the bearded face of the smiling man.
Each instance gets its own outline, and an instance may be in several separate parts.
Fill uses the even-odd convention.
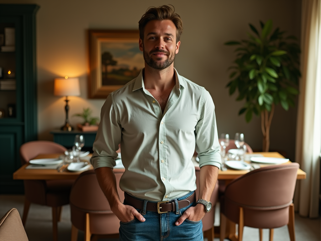
[[[144,60],[154,69],[169,67],[178,53],[180,41],[176,43],[176,27],[171,20],[149,21],[144,29],[144,41],[139,39],[139,49]]]

